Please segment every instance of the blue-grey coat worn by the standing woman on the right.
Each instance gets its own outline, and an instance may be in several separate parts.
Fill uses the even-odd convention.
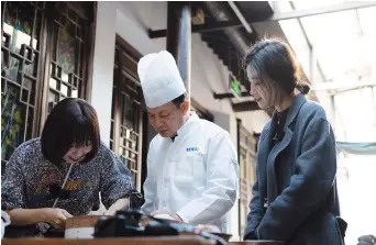
[[[275,118],[264,127],[258,143],[244,238],[340,245],[335,138],[324,110],[298,94],[287,114],[285,135],[273,147]],[[281,165],[278,172],[276,164]]]

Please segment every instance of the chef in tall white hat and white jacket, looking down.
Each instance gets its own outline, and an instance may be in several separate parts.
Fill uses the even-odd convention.
[[[228,232],[239,186],[230,134],[189,111],[186,88],[168,52],[141,58],[137,73],[150,123],[158,132],[147,154],[142,211]]]

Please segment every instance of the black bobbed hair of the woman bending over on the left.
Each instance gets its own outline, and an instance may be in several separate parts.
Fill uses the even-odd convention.
[[[66,98],[51,111],[44,123],[42,136],[43,156],[62,166],[64,155],[73,146],[86,146],[91,143],[92,151],[82,163],[91,160],[100,147],[100,132],[96,110],[85,100]]]

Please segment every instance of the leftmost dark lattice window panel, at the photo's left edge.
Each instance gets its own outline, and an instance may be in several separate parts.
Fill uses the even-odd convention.
[[[1,166],[37,125],[44,2],[1,2]]]

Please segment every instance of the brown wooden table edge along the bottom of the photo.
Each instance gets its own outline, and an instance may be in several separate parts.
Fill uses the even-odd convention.
[[[134,238],[4,238],[2,245],[215,245],[215,242],[200,236],[159,236]]]

